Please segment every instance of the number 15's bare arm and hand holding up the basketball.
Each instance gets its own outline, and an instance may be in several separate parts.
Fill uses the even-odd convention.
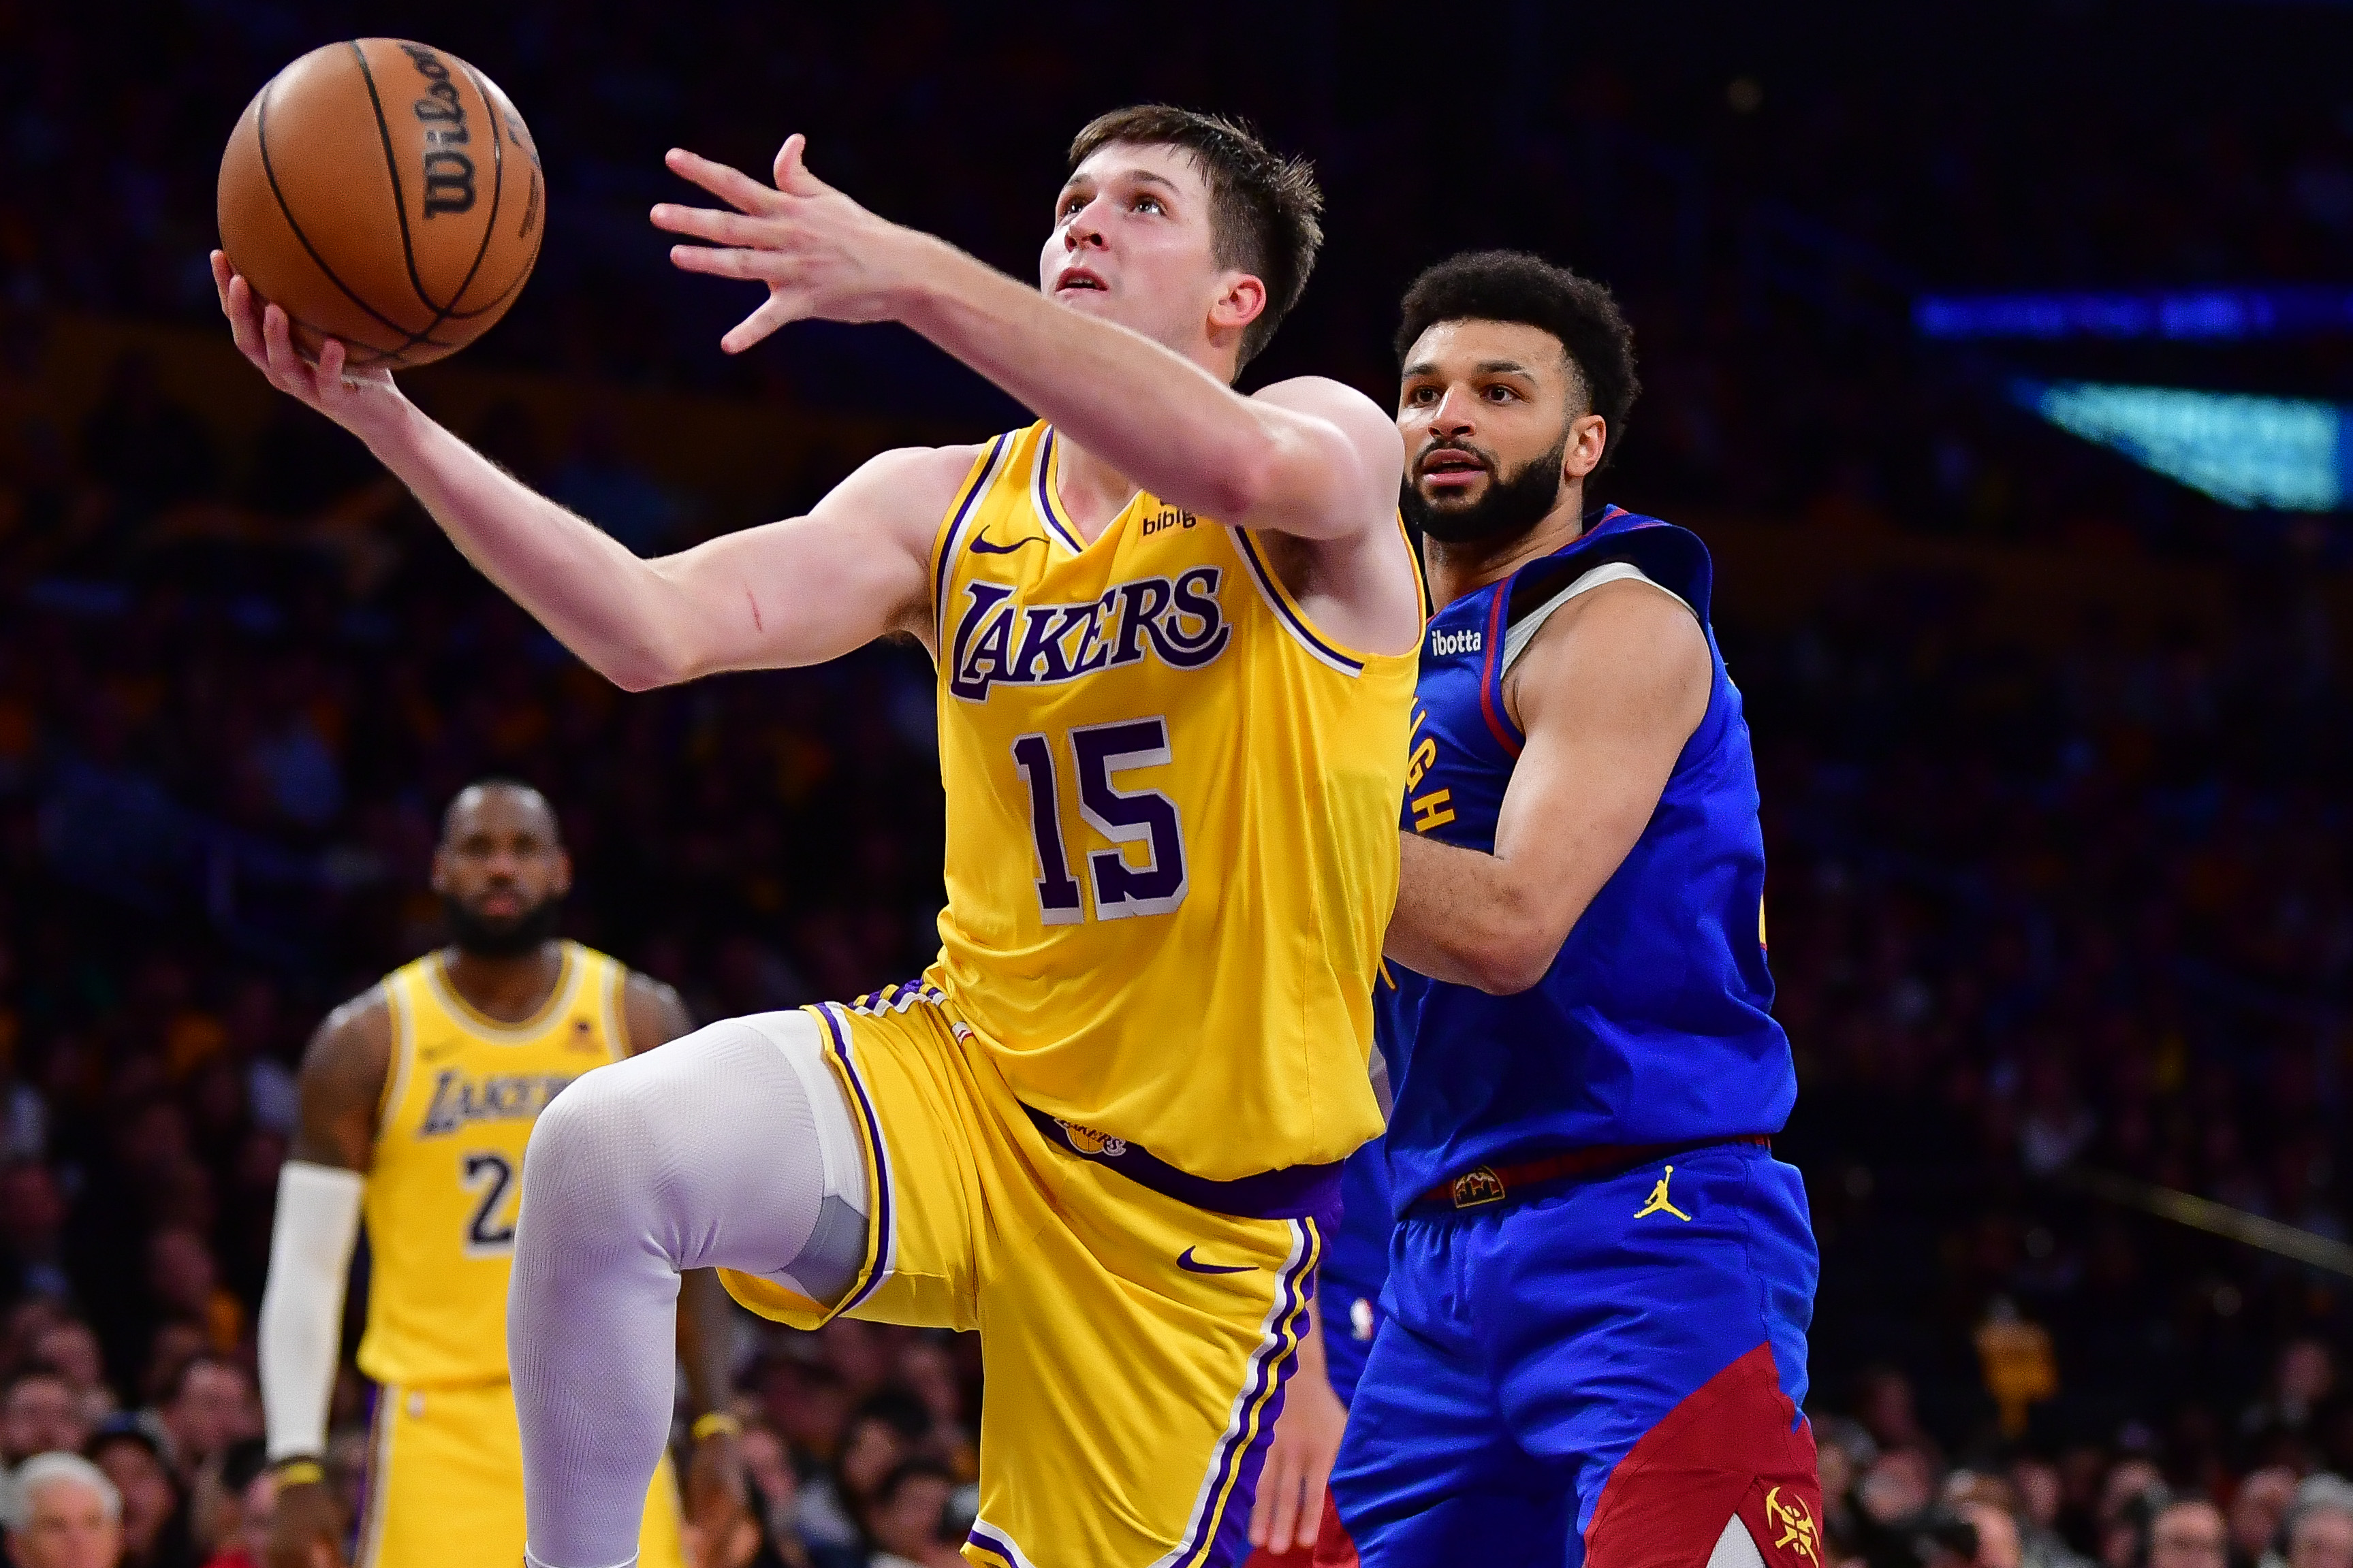
[[[271,386],[367,442],[482,576],[619,686],[821,663],[929,623],[932,534],[976,449],[887,451],[807,517],[640,559],[428,418],[386,371],[346,374],[341,343],[304,362],[285,310],[264,308],[221,252],[212,270],[238,348]]]

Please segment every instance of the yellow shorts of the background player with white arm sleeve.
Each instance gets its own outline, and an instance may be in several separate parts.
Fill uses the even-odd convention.
[[[664,1455],[645,1493],[642,1568],[685,1568],[678,1476]],[[376,1389],[358,1568],[515,1568],[522,1561],[522,1429],[504,1382]]]

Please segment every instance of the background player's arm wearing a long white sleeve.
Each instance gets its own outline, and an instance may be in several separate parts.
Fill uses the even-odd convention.
[[[327,1448],[344,1281],[391,1060],[391,1006],[381,990],[369,990],[327,1016],[301,1063],[301,1126],[278,1173],[271,1274],[256,1326],[268,1455],[282,1467],[268,1568],[334,1563],[344,1537],[341,1509],[315,1462]]]

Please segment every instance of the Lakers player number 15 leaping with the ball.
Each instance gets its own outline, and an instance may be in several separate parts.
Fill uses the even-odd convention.
[[[671,1408],[678,1272],[786,1324],[979,1328],[974,1563],[1238,1561],[1308,1314],[1398,875],[1421,632],[1388,416],[1233,390],[1299,299],[1315,186],[1172,108],[1080,132],[1038,289],[828,188],[793,136],[687,270],[767,287],[722,346],[896,320],[1042,414],[887,451],[807,517],[638,559],[391,376],[306,364],[214,261],[238,346],[628,689],[911,632],[939,670],[939,961],[720,1023],[539,1119],[508,1314],[527,1561],[612,1568]]]

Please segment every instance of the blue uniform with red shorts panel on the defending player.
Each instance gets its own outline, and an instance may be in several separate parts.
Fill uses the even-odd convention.
[[[1772,1568],[1821,1568],[1798,1413],[1817,1253],[1798,1171],[1762,1147],[1798,1072],[1769,1013],[1755,762],[1699,538],[1607,508],[1442,607],[1402,827],[1494,851],[1525,741],[1511,661],[1619,578],[1680,597],[1711,661],[1642,837],[1537,985],[1494,997],[1391,964],[1379,992],[1398,1227],[1332,1476],[1367,1568],[1697,1568],[1734,1516]]]

